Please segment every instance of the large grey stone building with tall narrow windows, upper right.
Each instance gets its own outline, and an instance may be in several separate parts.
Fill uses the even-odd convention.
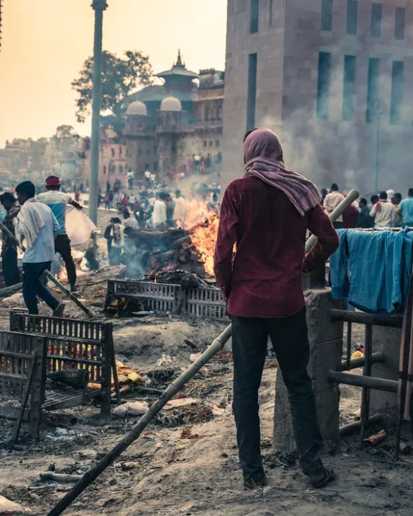
[[[413,187],[412,22],[408,0],[228,0],[224,182],[267,126],[320,187]]]

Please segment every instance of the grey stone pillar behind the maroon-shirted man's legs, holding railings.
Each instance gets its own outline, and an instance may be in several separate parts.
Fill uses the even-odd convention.
[[[315,272],[317,283],[324,283],[320,271]],[[310,276],[310,275],[306,275]],[[311,278],[305,278],[304,283],[311,284]],[[342,309],[342,302],[332,300],[330,289],[311,288],[306,290],[306,309],[308,340],[310,343],[310,361],[308,374],[313,380],[315,406],[318,425],[324,440],[339,440],[339,387],[328,380],[328,371],[337,369],[342,362],[343,324],[333,322],[330,309]],[[291,342],[291,353],[294,352]],[[277,372],[273,449],[284,453],[296,450],[293,439],[291,413],[288,394],[282,380],[281,370]]]

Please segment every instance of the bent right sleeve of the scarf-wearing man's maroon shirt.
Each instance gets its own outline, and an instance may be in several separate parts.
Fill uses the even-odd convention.
[[[303,272],[313,271],[327,262],[327,259],[339,247],[339,235],[321,206],[315,206],[308,212],[307,227],[313,235],[318,237],[318,241],[304,258]]]

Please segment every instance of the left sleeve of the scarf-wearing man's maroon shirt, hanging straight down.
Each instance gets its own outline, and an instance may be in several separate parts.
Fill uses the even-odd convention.
[[[237,206],[238,193],[230,185],[223,194],[214,254],[214,273],[225,300],[231,293],[233,248],[238,237]]]

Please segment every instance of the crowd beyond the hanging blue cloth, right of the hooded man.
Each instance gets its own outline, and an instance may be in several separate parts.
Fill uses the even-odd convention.
[[[329,214],[345,197],[336,183],[332,184],[330,191],[323,188],[321,193],[322,206]],[[413,188],[409,189],[406,199],[393,190],[373,194],[369,202],[361,197],[347,206],[334,226],[336,229],[413,227]]]

